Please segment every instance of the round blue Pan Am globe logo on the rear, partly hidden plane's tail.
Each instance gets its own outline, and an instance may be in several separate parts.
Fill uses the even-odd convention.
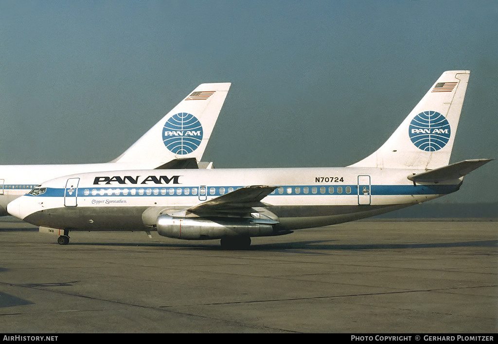
[[[201,122],[187,112],[171,116],[162,129],[162,141],[174,154],[186,155],[195,151],[202,141]]]

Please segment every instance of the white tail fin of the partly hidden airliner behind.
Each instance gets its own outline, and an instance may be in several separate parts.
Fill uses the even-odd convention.
[[[230,86],[199,85],[112,162],[143,162],[154,168],[178,158],[200,161]]]

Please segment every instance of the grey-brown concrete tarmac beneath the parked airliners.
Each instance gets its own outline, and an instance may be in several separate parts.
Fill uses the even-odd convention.
[[[0,223],[0,333],[497,333],[497,222],[219,241]]]

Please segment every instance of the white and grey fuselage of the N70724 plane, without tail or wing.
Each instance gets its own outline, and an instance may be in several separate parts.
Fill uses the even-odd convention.
[[[8,205],[12,215],[67,230],[143,230],[157,212],[174,212],[247,185],[277,188],[261,202],[279,230],[352,221],[458,190],[462,179],[413,183],[408,169],[292,168],[133,170],[79,173],[40,185],[43,193]],[[271,217],[271,216],[270,216]]]

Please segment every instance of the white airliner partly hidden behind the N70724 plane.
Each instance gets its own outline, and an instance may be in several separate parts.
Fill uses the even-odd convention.
[[[109,170],[212,168],[201,162],[230,83],[201,84],[109,163],[0,166],[0,216],[7,204],[40,182],[59,176]]]

